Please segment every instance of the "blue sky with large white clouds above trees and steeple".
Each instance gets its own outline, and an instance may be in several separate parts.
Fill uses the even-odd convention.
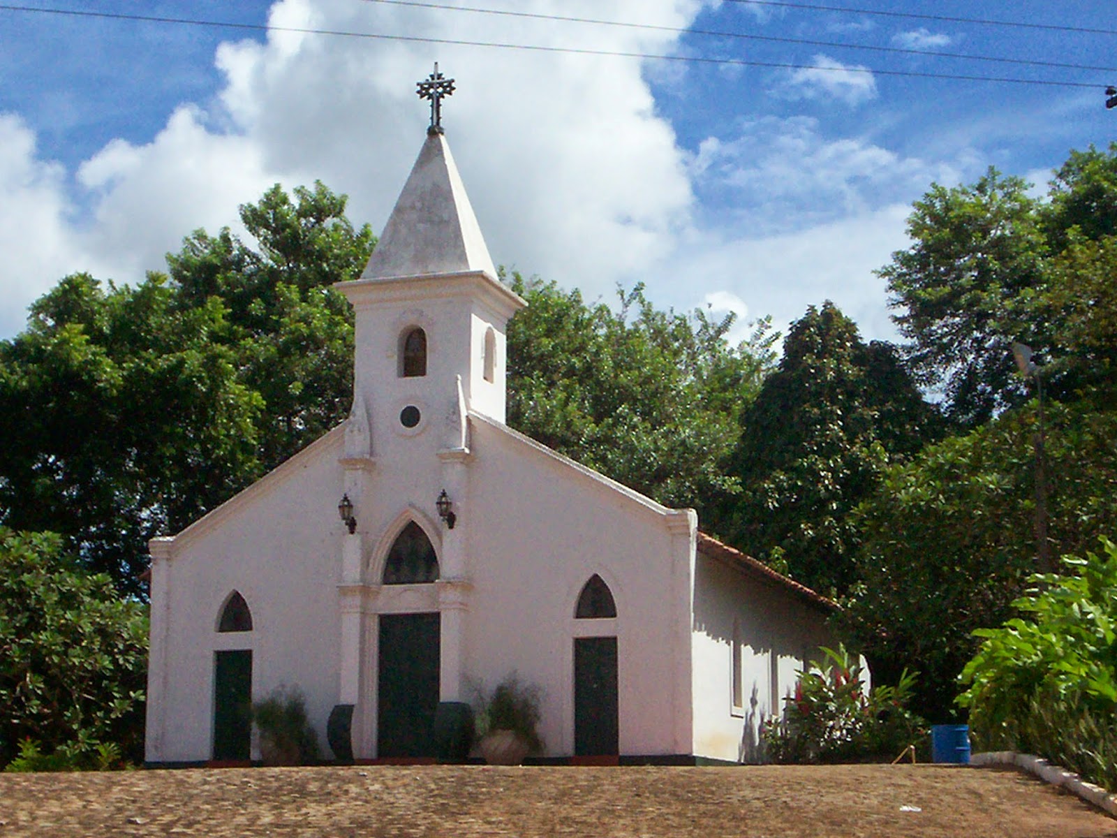
[[[590,298],[645,282],[658,305],[781,330],[831,298],[894,337],[872,272],[933,181],[995,165],[1042,185],[1117,128],[1117,19],[1086,0],[28,2],[277,28],[0,9],[0,337],[66,273],[136,282],[275,182],[321,179],[379,230],[435,60],[458,82],[448,137],[498,264]]]

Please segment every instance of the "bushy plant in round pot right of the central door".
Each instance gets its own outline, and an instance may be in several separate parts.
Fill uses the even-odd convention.
[[[490,765],[518,765],[528,754],[543,751],[540,689],[525,685],[516,673],[497,684],[491,695],[478,691],[478,747]]]

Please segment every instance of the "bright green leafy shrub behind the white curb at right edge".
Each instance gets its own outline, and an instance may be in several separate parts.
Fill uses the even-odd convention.
[[[1117,545],[1065,556],[1067,575],[1034,575],[1023,613],[984,638],[957,702],[982,749],[1046,756],[1117,789]]]

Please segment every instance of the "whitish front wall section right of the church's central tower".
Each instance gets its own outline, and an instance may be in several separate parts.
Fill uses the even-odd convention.
[[[472,583],[466,675],[509,672],[543,693],[547,754],[574,753],[574,639],[615,637],[623,755],[689,754],[689,579],[694,514],[670,511],[471,422],[462,521]],[[575,619],[599,574],[617,617]]]

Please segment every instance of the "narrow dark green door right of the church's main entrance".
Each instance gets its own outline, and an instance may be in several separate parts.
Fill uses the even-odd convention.
[[[617,638],[574,638],[574,755],[617,753]]]

